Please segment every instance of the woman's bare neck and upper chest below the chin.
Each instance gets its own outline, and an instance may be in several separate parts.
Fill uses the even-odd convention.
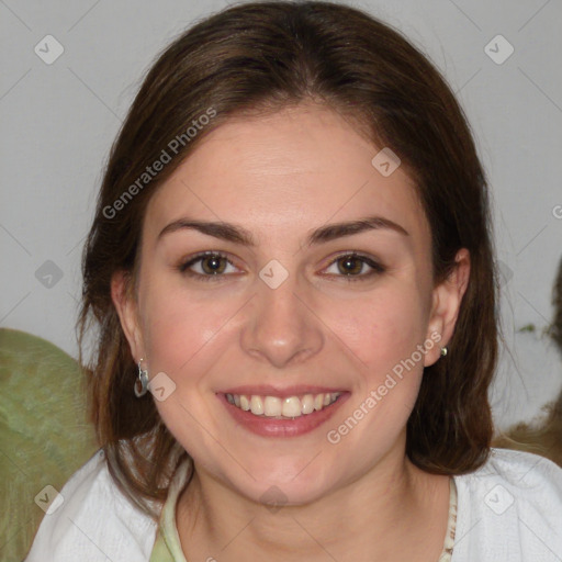
[[[381,460],[313,503],[278,509],[195,464],[178,501],[177,526],[187,560],[345,561],[369,552],[369,560],[432,562],[441,553],[448,507],[449,477],[420,471],[405,454]]]

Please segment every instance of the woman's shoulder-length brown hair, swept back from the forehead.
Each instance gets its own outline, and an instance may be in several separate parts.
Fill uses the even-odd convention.
[[[147,202],[206,134],[231,117],[308,100],[353,119],[373,150],[387,146],[407,167],[431,228],[436,284],[460,248],[471,254],[449,353],[426,368],[407,424],[407,456],[428,472],[461,474],[490,452],[496,272],[485,178],[454,95],[400,33],[362,11],[315,1],[245,3],[181,34],[148,71],[112,146],[83,254],[80,345],[90,321],[99,328],[90,417],[113,479],[148,514],[189,456],[150,394],[133,393],[137,368],[111,300],[112,274],[124,270],[134,284]],[[188,138],[188,128],[213,112]],[[178,138],[183,144],[171,161],[139,183]]]

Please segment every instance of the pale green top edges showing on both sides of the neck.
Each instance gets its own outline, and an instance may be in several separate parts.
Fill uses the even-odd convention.
[[[181,550],[180,537],[176,527],[176,505],[178,496],[183,490],[188,477],[189,463],[180,464],[173,475],[168,497],[164,504],[156,541],[149,562],[187,562],[183,551]],[[447,525],[447,533],[443,550],[439,557],[439,562],[450,562],[452,555],[452,547],[454,543],[454,530],[457,524],[457,485],[454,477],[450,479],[450,501],[449,501],[449,522]]]

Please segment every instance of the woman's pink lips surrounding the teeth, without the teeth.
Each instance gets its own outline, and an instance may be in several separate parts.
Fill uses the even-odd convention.
[[[252,386],[254,394],[259,394],[258,392],[256,392],[256,390],[257,387]],[[227,392],[228,394],[238,394],[238,392]],[[319,392],[329,391],[326,390]],[[308,391],[305,391],[304,393],[306,394],[308,393]],[[314,393],[315,392],[311,392],[311,394]],[[245,393],[240,392],[240,394]],[[291,391],[291,393],[286,395],[294,396],[295,394],[301,394],[301,391],[294,392],[293,390]],[[295,417],[294,419],[274,419],[267,416],[256,416],[251,412],[245,412],[244,409],[240,409],[235,405],[231,404],[226,400],[225,393],[217,393],[216,397],[223,403],[228,414],[231,414],[231,416],[238,425],[243,426],[245,429],[251,431],[255,435],[259,435],[262,437],[299,437],[301,435],[305,435],[313,431],[314,429],[322,426],[329,418],[331,418],[336,414],[336,412],[341,407],[341,404],[344,404],[349,398],[350,395],[350,392],[342,392],[338,400],[330,404],[329,406],[324,407],[321,411],[315,411],[312,414],[305,414],[300,417]]]

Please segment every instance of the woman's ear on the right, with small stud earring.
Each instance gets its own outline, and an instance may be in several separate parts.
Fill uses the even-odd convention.
[[[425,355],[424,366],[434,364],[440,357],[441,347],[451,339],[454,325],[459,316],[462,297],[469,285],[470,252],[461,248],[454,258],[456,267],[450,276],[432,292],[432,305],[429,317],[427,339],[436,341],[436,334],[440,335],[439,345],[434,346]],[[432,335],[432,337],[431,337]]]

